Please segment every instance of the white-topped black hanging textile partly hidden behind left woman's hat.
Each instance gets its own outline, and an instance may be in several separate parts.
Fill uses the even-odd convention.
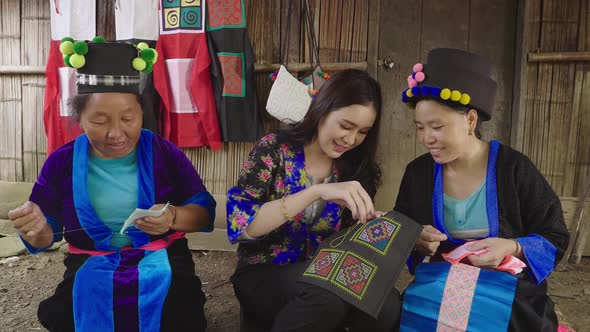
[[[146,43],[155,48],[158,40],[158,0],[116,0],[116,38],[134,44]],[[154,87],[153,74],[141,73],[140,93],[143,99],[143,128],[158,131],[160,96]]]

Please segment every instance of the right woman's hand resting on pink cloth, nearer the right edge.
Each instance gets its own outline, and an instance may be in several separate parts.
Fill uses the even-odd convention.
[[[495,269],[502,263],[506,256],[514,255],[518,251],[518,244],[512,239],[491,237],[479,241],[473,241],[469,250],[477,251],[485,249],[488,252],[479,256],[467,257],[473,266]]]

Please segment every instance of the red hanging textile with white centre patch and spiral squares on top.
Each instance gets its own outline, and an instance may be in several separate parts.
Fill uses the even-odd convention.
[[[205,1],[159,0],[160,132],[179,147],[221,148],[205,36]]]

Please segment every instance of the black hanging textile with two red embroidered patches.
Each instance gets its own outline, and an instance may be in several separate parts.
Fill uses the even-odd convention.
[[[256,99],[244,0],[207,1],[207,45],[223,141],[256,141],[264,133]]]

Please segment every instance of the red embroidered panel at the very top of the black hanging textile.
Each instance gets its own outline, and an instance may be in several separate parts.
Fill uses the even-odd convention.
[[[207,12],[207,30],[246,27],[244,0],[210,0]]]

